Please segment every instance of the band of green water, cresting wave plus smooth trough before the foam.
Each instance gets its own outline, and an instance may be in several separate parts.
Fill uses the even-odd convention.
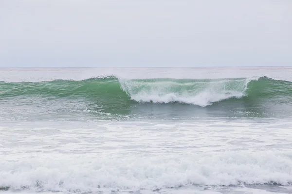
[[[292,82],[268,77],[2,81],[0,100],[6,105],[2,111],[18,106],[18,114],[25,110],[26,119],[37,114],[56,118],[82,114],[87,119],[281,117],[291,114]]]

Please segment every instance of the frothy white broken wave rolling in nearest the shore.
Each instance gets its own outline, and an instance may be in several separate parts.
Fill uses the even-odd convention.
[[[182,186],[291,185],[292,153],[222,152],[189,156],[110,158],[43,155],[0,162],[0,187],[98,192]]]

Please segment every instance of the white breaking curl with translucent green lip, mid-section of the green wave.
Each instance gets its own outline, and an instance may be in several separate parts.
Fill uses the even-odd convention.
[[[245,96],[248,83],[258,79],[259,77],[239,80],[191,80],[183,83],[171,80],[142,82],[119,79],[119,81],[128,96],[138,102],[180,102],[205,107],[231,97]]]

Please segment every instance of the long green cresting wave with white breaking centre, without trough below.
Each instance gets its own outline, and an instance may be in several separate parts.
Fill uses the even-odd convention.
[[[0,99],[13,97],[80,98],[102,104],[179,102],[202,107],[228,99],[290,103],[292,82],[268,77],[127,80],[114,76],[83,81],[0,82]]]

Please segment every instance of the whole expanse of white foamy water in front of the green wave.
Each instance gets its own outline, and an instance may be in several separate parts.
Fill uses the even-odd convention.
[[[291,122],[25,124],[0,128],[0,187],[122,192],[292,182]]]

